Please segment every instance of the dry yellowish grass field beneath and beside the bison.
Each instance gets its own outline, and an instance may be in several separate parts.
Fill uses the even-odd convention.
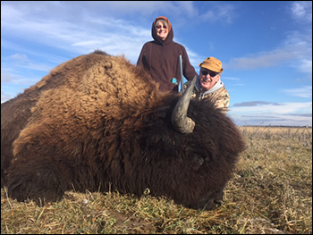
[[[1,233],[312,234],[312,129],[240,127],[247,142],[224,203],[212,211],[175,205],[148,190],[67,192],[46,206],[1,189]]]

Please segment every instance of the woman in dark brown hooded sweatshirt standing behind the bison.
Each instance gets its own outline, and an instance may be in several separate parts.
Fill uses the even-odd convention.
[[[153,21],[151,34],[154,40],[142,46],[137,65],[157,81],[159,90],[178,92],[181,81],[180,55],[182,74],[186,80],[192,80],[198,74],[190,64],[185,47],[173,41],[173,27],[165,16],[159,16]]]

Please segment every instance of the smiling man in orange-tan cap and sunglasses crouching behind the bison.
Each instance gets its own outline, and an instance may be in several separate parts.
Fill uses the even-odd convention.
[[[224,83],[221,80],[221,73],[224,71],[222,62],[215,57],[207,57],[203,63],[199,63],[200,74],[197,77],[195,88],[193,88],[191,98],[208,98],[217,108],[227,112],[230,96]],[[190,81],[184,83],[184,89],[188,88]]]

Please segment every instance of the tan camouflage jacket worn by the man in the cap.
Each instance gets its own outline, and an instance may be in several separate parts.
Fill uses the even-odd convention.
[[[183,85],[184,89],[188,88],[188,86],[190,85],[190,82],[191,81],[187,81]],[[201,89],[199,89],[198,86],[195,86],[195,88],[193,88],[191,98],[195,98],[198,100],[209,99],[215,104],[216,108],[221,108],[223,113],[227,112],[229,102],[231,99],[231,97],[228,94],[227,89],[224,86],[206,95],[203,95]]]

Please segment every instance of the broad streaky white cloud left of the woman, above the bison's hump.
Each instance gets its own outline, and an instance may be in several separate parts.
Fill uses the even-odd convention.
[[[91,23],[92,21],[92,23]],[[55,20],[54,23],[38,19],[21,21],[2,21],[6,35],[20,34],[26,41],[71,50],[77,54],[87,54],[95,49],[104,49],[110,55],[127,56],[136,62],[141,46],[151,39],[150,30],[140,28],[131,22],[102,18],[89,18],[92,29],[81,30],[80,25]],[[88,21],[86,22],[88,24]],[[133,30],[135,29],[135,30]],[[27,32],[31,32],[27,33]],[[123,33],[120,33],[123,32]],[[5,44],[4,44],[5,46]]]

